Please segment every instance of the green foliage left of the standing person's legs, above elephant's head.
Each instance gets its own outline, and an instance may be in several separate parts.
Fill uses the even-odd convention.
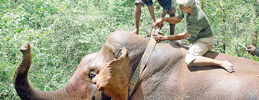
[[[32,49],[29,82],[42,91],[57,90],[85,55],[100,50],[108,34],[133,29],[131,2],[1,1],[0,99],[19,99],[13,73],[22,57],[21,45],[30,43]]]

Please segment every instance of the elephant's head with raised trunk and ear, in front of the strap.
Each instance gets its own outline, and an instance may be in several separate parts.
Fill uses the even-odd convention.
[[[26,100],[104,100],[111,99],[110,97],[114,96],[119,96],[116,98],[120,99],[127,99],[128,81],[132,68],[135,68],[132,66],[136,66],[138,64],[140,59],[139,56],[141,56],[145,50],[145,48],[139,47],[144,47],[145,42],[147,44],[148,40],[145,38],[142,38],[142,40],[139,40],[139,38],[134,38],[138,37],[136,34],[127,36],[125,35],[125,32],[126,34],[128,33],[127,31],[115,31],[111,33],[99,52],[86,55],[81,60],[76,72],[65,86],[51,92],[40,91],[29,83],[27,74],[31,65],[31,48],[29,43],[21,46],[20,51],[22,52],[23,57],[14,74],[14,85],[18,96],[20,96],[21,99]],[[132,40],[127,40],[128,37],[133,38]],[[137,43],[137,41],[145,42]],[[126,44],[136,45],[129,46]],[[113,67],[115,65],[117,67]],[[108,71],[109,73],[104,73],[102,72],[104,70],[101,69],[105,69],[105,71]],[[114,72],[114,70],[118,71]],[[121,72],[122,70],[124,70],[124,72]],[[114,84],[118,82],[121,84],[114,86]],[[114,88],[117,88],[120,92],[107,91],[112,89],[114,90]]]

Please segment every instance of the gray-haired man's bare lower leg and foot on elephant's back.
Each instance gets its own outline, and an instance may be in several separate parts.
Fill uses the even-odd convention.
[[[207,58],[207,57],[203,57],[203,56],[198,56],[197,59],[195,59],[194,61],[192,61],[190,63],[191,66],[219,66],[223,69],[225,69],[226,71],[228,71],[229,73],[234,72],[234,67],[233,65],[228,62],[228,61],[218,61],[215,59],[211,59],[211,58]]]

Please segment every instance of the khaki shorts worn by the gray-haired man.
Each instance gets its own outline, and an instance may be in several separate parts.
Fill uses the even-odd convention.
[[[214,45],[213,36],[208,38],[200,38],[191,44],[188,49],[185,62],[190,66],[198,56],[203,56],[207,51],[210,51]]]

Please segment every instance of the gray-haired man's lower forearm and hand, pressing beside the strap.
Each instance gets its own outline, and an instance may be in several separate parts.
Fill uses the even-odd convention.
[[[158,42],[161,41],[166,41],[166,40],[180,40],[180,39],[184,39],[187,38],[188,36],[190,36],[190,34],[188,33],[180,33],[180,34],[174,34],[174,35],[168,35],[168,36],[162,36],[162,35],[158,35],[158,34],[152,34],[155,38],[155,40],[158,40]]]

